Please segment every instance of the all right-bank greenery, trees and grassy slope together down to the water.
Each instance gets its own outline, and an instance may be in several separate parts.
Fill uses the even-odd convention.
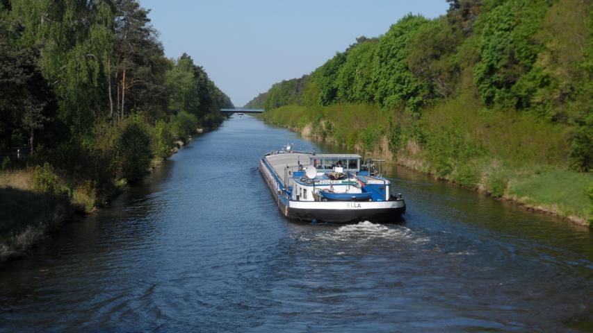
[[[387,139],[398,162],[592,219],[593,3],[448,2],[357,40],[263,119],[348,149]]]

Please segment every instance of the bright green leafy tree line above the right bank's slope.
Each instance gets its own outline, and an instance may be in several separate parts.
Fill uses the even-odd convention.
[[[471,90],[477,112],[520,112],[567,126],[567,166],[592,169],[592,3],[447,2],[446,15],[406,15],[384,35],[357,38],[311,74],[276,83],[248,105],[373,104],[417,120]]]

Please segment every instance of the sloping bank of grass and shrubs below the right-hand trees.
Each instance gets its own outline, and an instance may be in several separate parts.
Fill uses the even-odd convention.
[[[262,118],[364,155],[431,173],[527,207],[592,225],[593,173],[565,167],[569,129],[529,114],[481,111],[471,91],[420,119],[377,105],[286,105]]]

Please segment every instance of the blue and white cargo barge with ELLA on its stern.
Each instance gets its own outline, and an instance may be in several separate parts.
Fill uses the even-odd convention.
[[[405,200],[391,182],[361,171],[360,155],[282,151],[264,155],[259,170],[284,216],[300,221],[356,223],[396,221]]]

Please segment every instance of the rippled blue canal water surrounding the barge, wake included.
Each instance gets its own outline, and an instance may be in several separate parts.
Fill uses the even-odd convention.
[[[592,332],[590,231],[398,168],[402,221],[294,223],[257,169],[287,142],[315,146],[252,117],[197,137],[3,266],[0,331]]]

